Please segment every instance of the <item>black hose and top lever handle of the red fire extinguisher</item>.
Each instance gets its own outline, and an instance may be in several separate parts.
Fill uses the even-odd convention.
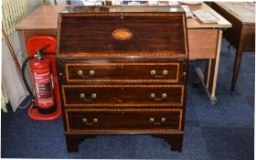
[[[25,61],[22,64],[22,68],[21,68],[21,70],[22,70],[22,79],[24,81],[25,87],[26,87],[27,92],[28,92],[28,96],[30,97],[30,100],[32,101],[34,108],[37,108],[37,105],[36,105],[36,102],[35,102],[35,96],[33,95],[33,92],[30,90],[30,87],[27,83],[26,76],[25,76],[25,70],[26,70],[26,67],[27,67],[27,63],[30,59],[34,59],[34,58],[37,58],[37,57],[40,57],[40,59],[41,59],[43,55],[54,55],[55,53],[43,53],[43,51],[46,48],[48,48],[49,46],[50,45],[47,45],[47,46],[44,46],[43,48],[40,48],[39,50],[37,50],[37,52],[34,55],[31,55],[27,59],[25,59]]]

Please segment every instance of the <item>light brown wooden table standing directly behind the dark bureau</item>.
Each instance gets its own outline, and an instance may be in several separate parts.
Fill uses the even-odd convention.
[[[16,25],[22,31],[25,44],[29,37],[51,35],[56,37],[59,12],[66,5],[41,5],[32,14]],[[189,5],[190,10],[203,9],[219,18],[216,24],[204,24],[194,18],[187,18],[189,59],[207,59],[205,73],[196,68],[197,75],[208,93],[210,101],[217,102],[215,95],[222,28],[231,27],[229,21],[206,4]]]

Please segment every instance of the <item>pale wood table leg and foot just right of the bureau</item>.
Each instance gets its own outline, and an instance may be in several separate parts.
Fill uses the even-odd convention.
[[[219,37],[218,37],[218,46],[216,50],[216,59],[207,59],[205,66],[205,75],[202,70],[196,68],[197,76],[201,81],[203,87],[208,93],[208,97],[213,104],[218,103],[216,98],[216,86],[217,86],[217,76],[219,69],[219,54],[221,48],[221,39],[222,39],[222,30],[219,29]]]

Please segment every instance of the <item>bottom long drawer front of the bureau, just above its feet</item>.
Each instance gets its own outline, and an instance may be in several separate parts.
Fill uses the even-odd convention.
[[[176,131],[182,129],[182,109],[80,110],[67,109],[68,131]]]

